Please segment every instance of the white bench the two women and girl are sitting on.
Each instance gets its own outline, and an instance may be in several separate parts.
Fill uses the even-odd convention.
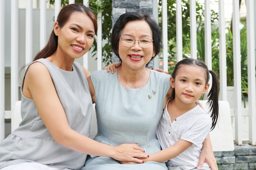
[[[207,101],[200,101],[203,108],[208,112],[209,107]],[[15,104],[14,113],[11,115],[11,132],[19,126],[21,121],[20,115],[20,104],[21,101],[17,101]],[[95,112],[95,104],[93,104],[92,122],[90,138],[93,138],[97,133],[97,119]],[[209,113],[210,114],[210,113]],[[219,118],[214,130],[210,132],[211,143],[213,151],[232,151],[234,150],[234,140],[231,125],[231,115],[229,102],[219,101]]]

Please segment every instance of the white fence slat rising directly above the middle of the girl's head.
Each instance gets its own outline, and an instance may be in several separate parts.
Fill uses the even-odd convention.
[[[191,46],[191,57],[197,59],[197,41],[196,41],[196,8],[195,0],[189,0],[190,8],[190,46]]]

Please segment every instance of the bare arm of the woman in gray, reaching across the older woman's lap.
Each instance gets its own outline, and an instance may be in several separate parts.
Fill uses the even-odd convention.
[[[58,144],[84,154],[112,157],[119,161],[142,163],[136,157],[147,157],[144,150],[137,144],[109,146],[72,130],[68,125],[49,71],[42,63],[35,62],[29,66],[23,93],[25,97],[34,100],[43,123]]]

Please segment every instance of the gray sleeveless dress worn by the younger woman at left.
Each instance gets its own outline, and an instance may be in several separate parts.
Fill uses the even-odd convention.
[[[81,65],[75,61],[73,71],[64,71],[45,59],[36,62],[48,68],[70,127],[89,136],[92,98]],[[84,166],[87,155],[57,144],[43,124],[34,100],[23,94],[21,116],[20,126],[0,144],[0,168],[24,162],[38,162],[61,169],[81,169]]]

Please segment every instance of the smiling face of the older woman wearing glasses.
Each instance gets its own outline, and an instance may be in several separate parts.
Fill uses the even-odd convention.
[[[152,38],[152,31],[148,23],[144,20],[135,20],[127,22],[124,29],[121,31],[120,38],[135,39],[132,45],[128,47],[123,40],[119,40],[119,56],[122,60],[122,66],[127,65],[132,69],[145,68],[151,58],[155,56],[153,42],[141,47],[139,39]]]

